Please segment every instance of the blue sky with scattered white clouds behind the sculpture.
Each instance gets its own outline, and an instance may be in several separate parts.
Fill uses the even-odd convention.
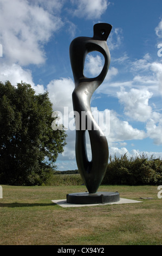
[[[68,107],[71,113],[69,45],[77,36],[93,36],[99,22],[113,26],[107,40],[111,64],[91,106],[110,113],[109,154],[162,157],[161,0],[0,0],[0,80],[30,83],[36,93],[48,90],[53,110],[63,114]],[[94,77],[102,66],[101,54],[90,53],[85,74]],[[75,130],[67,135],[58,170],[77,168]]]

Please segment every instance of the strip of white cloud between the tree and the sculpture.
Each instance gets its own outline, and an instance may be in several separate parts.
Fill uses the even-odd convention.
[[[69,129],[69,121],[74,120],[73,115],[73,103],[72,103],[72,93],[74,90],[74,82],[71,78],[61,78],[59,80],[52,80],[47,85],[47,90],[49,92],[50,101],[53,103],[53,110],[58,112],[60,122],[66,127],[67,145],[64,147],[64,151],[62,154],[59,154],[57,159],[57,169],[63,170],[70,166],[69,160],[73,162],[75,161],[75,127],[74,130]],[[66,108],[64,108],[66,107]],[[62,164],[61,164],[62,163]],[[72,167],[70,167],[72,168]],[[73,168],[72,168],[73,169]]]

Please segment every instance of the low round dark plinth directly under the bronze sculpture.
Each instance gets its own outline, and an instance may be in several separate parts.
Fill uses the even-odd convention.
[[[67,203],[70,204],[105,204],[114,203],[120,200],[118,192],[96,192],[93,194],[73,193],[67,194]]]

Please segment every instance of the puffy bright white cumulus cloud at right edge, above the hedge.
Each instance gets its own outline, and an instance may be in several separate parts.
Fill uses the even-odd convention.
[[[153,111],[152,107],[148,105],[148,100],[152,95],[146,89],[131,89],[129,92],[121,90],[118,92],[119,101],[124,105],[124,113],[129,118],[146,124],[146,133],[143,138],[149,137],[153,139],[155,145],[161,145],[162,115]]]

